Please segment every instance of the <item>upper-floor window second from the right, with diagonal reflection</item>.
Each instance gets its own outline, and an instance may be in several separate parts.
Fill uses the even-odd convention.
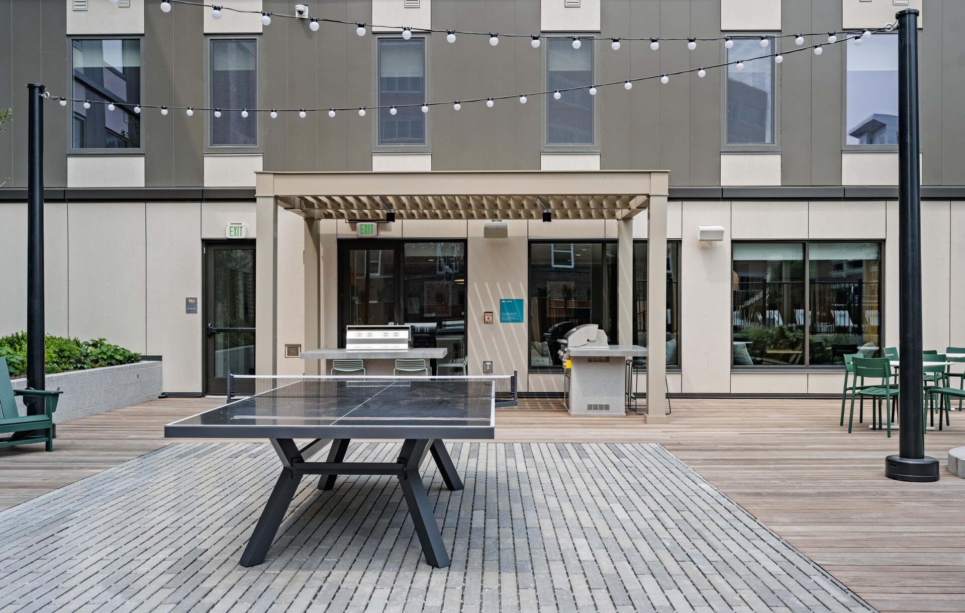
[[[757,58],[769,49],[760,39],[734,39],[728,62],[743,61],[743,70],[727,69],[727,143],[729,145],[774,144],[774,61]]]

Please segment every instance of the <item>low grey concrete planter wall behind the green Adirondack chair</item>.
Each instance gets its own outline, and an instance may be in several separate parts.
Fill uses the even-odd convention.
[[[22,389],[27,386],[27,379],[16,378],[13,383],[14,389]],[[161,394],[161,363],[136,362],[55,373],[46,376],[46,388],[64,391],[54,413],[54,423],[61,424],[157,398]],[[17,404],[24,414],[23,404]]]

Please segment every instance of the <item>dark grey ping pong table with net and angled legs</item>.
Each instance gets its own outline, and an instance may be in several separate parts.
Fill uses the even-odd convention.
[[[168,438],[267,438],[281,474],[241,555],[241,566],[262,564],[301,478],[318,475],[318,489],[339,475],[392,475],[426,561],[450,564],[419,472],[427,454],[447,488],[462,488],[445,438],[491,439],[497,391],[510,376],[232,376],[237,393],[250,394],[164,427]],[[398,460],[345,461],[353,438],[402,439]],[[312,439],[299,447],[295,439]],[[325,461],[307,461],[331,441]]]

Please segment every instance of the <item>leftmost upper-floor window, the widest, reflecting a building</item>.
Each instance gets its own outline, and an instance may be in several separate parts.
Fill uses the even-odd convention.
[[[80,39],[72,55],[73,98],[80,99],[73,103],[73,148],[140,148],[141,118],[129,105],[141,102],[141,42]],[[97,101],[121,105],[112,111]]]

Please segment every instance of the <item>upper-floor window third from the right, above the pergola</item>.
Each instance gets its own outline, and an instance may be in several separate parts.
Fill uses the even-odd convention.
[[[569,39],[546,41],[546,89],[561,90],[560,99],[546,97],[546,144],[593,145],[593,43],[574,49]]]

